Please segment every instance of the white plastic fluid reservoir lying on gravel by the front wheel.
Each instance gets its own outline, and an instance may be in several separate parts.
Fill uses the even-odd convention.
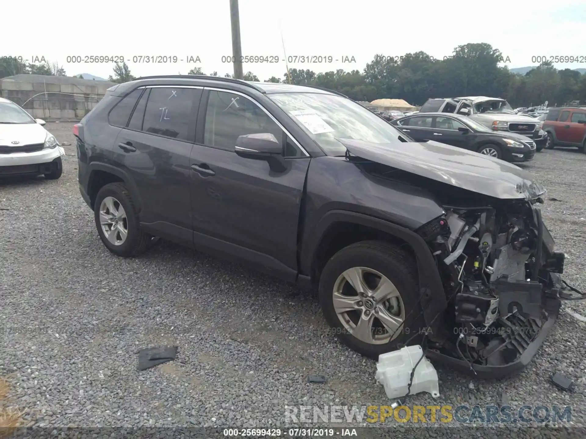
[[[414,368],[413,381],[411,381]],[[425,358],[423,349],[419,345],[381,354],[376,369],[376,380],[384,386],[384,391],[390,399],[420,392],[431,393],[434,398],[440,396],[438,374],[431,361]],[[410,382],[411,386],[409,386]]]

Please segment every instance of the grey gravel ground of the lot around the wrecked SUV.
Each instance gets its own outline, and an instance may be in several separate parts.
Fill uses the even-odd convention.
[[[46,126],[70,143],[60,180],[0,183],[0,376],[26,424],[268,428],[285,425],[285,405],[390,403],[375,362],[338,344],[311,291],[167,242],[140,258],[108,252],[79,194],[72,125]],[[544,150],[523,167],[548,188],[544,218],[567,255],[564,278],[586,291],[586,155]],[[582,315],[586,304],[564,304],[522,375],[471,380],[438,367],[440,398],[407,403],[492,404],[502,390],[517,408],[571,405],[583,424]],[[137,351],[162,344],[178,345],[178,359],[137,371]],[[553,371],[573,378],[575,392],[554,388]],[[328,383],[309,384],[309,374]],[[468,434],[481,436],[461,427],[406,428],[401,437]]]

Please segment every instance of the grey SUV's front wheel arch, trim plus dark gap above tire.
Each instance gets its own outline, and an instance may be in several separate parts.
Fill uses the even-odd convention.
[[[360,234],[340,235],[352,229],[359,231]],[[338,236],[341,238],[336,239]],[[439,325],[442,319],[437,316],[447,308],[447,300],[435,259],[421,236],[400,225],[356,212],[329,211],[315,225],[305,248],[302,249],[302,273],[318,282],[320,270],[333,253],[350,243],[373,239],[373,236],[403,246],[414,255],[417,261],[419,300],[424,310],[425,322],[430,326]],[[433,327],[432,332],[435,332]]]

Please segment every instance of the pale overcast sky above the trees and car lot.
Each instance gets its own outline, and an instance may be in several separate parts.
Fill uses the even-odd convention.
[[[229,0],[29,0],[8,2],[2,11],[4,36],[9,28],[18,32],[2,39],[0,56],[22,56],[29,62],[44,56],[68,75],[107,78],[113,64],[72,64],[67,56],[123,56],[134,76],[186,74],[196,66],[208,74],[233,73],[233,66],[222,62],[232,54]],[[291,59],[332,57],[332,63],[289,63],[289,68],[316,72],[362,71],[377,53],[401,56],[423,50],[442,59],[466,43],[492,44],[510,59],[509,68],[533,66],[539,64],[533,57],[550,56],[582,57],[582,63],[554,65],[584,68],[586,0],[240,0],[240,34],[243,55],[280,60],[244,64],[244,72],[252,71],[260,80],[284,76],[281,35]],[[178,62],[134,63],[135,56],[176,56]],[[201,62],[186,63],[190,56]],[[342,63],[343,57],[356,62]]]

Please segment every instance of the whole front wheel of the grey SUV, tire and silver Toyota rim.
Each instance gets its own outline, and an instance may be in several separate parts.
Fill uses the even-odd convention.
[[[382,241],[340,250],[319,282],[328,324],[343,344],[372,359],[421,341],[425,321],[418,297],[415,259]]]

